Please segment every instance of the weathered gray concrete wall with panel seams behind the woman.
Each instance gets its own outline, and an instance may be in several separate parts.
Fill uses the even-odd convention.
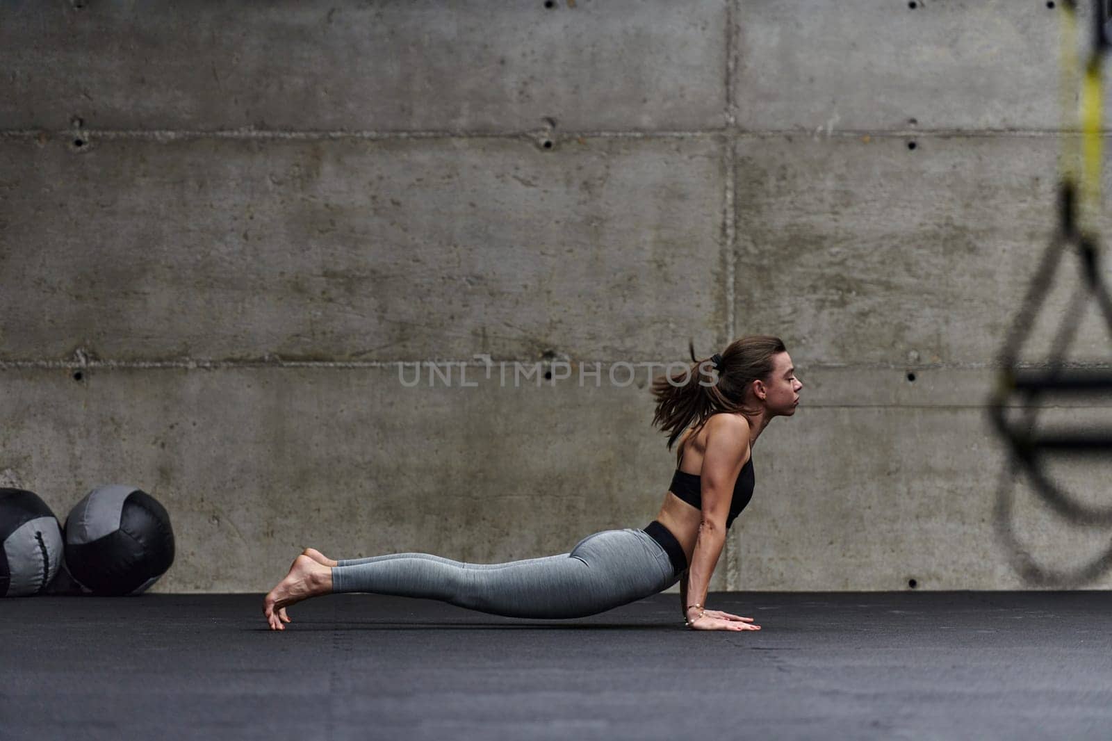
[[[1024,586],[984,404],[1054,225],[1060,11],[549,4],[0,6],[0,485],[155,495],[153,591],[559,553],[665,494],[644,364],[771,333],[803,403],[712,590]],[[1112,537],[1015,494],[1037,561]]]

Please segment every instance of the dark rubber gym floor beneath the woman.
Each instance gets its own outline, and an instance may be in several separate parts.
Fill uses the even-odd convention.
[[[262,594],[0,601],[7,739],[1109,739],[1109,592],[677,595],[578,620]]]

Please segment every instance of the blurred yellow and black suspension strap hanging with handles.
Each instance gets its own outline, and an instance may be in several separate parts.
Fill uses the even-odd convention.
[[[1099,265],[1096,226],[1101,214],[1101,88],[1102,62],[1109,46],[1109,12],[1105,0],[1093,0],[1092,49],[1084,65],[1081,85],[1079,151],[1073,95],[1078,90],[1080,68],[1076,47],[1076,0],[1062,0],[1061,100],[1063,145],[1059,157],[1059,223],[1051,244],[1043,254],[1026,295],[1020,305],[1000,355],[1000,372],[995,392],[990,399],[990,417],[1007,444],[1009,470],[1001,481],[996,500],[996,523],[1013,553],[1023,576],[1033,583],[1078,584],[1101,575],[1112,566],[1112,547],[1072,573],[1051,572],[1034,563],[1011,530],[1011,488],[1015,474],[1027,475],[1034,491],[1058,514],[1083,525],[1112,525],[1112,506],[1096,508],[1080,504],[1065,494],[1046,475],[1043,456],[1046,453],[1086,455],[1112,452],[1112,427],[1102,431],[1059,429],[1035,432],[1035,405],[1039,396],[1049,394],[1112,394],[1112,373],[1108,369],[1064,368],[1063,358],[1081,324],[1082,310],[1095,300],[1112,334],[1112,299],[1109,297]],[[1078,165],[1080,164],[1080,172]],[[1044,368],[1019,367],[1020,349],[1031,334],[1035,316],[1050,293],[1054,274],[1066,249],[1075,249],[1082,280],[1066,307]],[[1006,403],[1020,402],[1020,421],[1006,416]]]

